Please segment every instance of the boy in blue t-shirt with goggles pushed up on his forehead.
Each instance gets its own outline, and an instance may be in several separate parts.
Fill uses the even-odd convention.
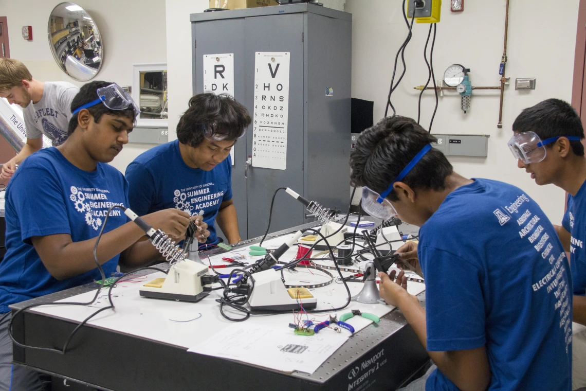
[[[67,140],[26,158],[6,189],[6,255],[0,263],[2,390],[50,387],[47,375],[12,365],[8,306],[100,280],[93,256],[96,236],[111,206],[128,207],[128,183],[107,163],[128,142],[138,114],[134,102],[116,84],[93,81],[81,87],[71,111]],[[176,209],[143,219],[177,239],[190,221]],[[201,227],[205,229],[203,223]],[[138,242],[141,237],[144,232],[121,209],[112,210],[97,249],[106,276],[118,263],[135,268],[159,258],[150,242]]]

